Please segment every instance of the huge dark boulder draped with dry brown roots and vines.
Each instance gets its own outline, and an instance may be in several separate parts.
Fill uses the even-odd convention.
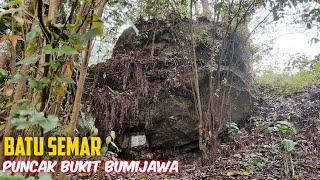
[[[142,133],[147,140],[144,147],[151,150],[181,153],[198,149],[189,21],[142,21],[137,27],[139,35],[130,28],[124,31],[113,57],[97,64],[89,76],[94,80],[87,83],[85,99],[100,136],[115,130],[123,137],[119,140],[123,148],[130,148],[128,136]],[[209,21],[198,21],[195,27],[200,93],[205,104],[209,77],[212,72],[217,75],[215,62],[221,56],[218,49],[225,27]],[[250,53],[241,36],[230,33],[233,53],[224,56],[220,74],[229,78],[223,88],[229,89],[230,120],[240,122],[252,108]]]

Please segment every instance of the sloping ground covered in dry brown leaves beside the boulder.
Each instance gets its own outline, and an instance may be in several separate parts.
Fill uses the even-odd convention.
[[[305,92],[280,95],[263,88],[253,115],[234,138],[222,143],[214,164],[183,165],[179,175],[123,175],[111,179],[286,179],[280,137],[264,130],[277,121],[288,121],[298,129],[287,136],[296,146],[292,154],[296,179],[320,179],[320,86]],[[290,179],[290,178],[289,178]]]

